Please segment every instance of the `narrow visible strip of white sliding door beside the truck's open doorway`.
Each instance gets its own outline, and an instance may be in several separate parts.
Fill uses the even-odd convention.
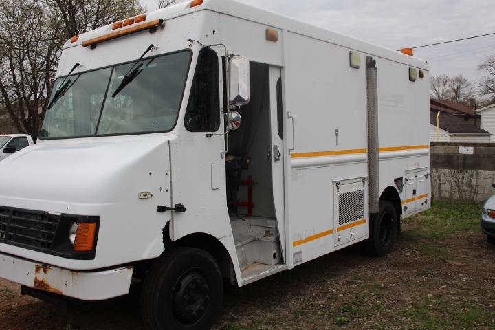
[[[284,159],[283,153],[283,103],[282,79],[279,67],[270,67],[270,136],[272,145],[272,184],[273,199],[281,239],[281,249],[285,260],[285,206],[284,206]]]

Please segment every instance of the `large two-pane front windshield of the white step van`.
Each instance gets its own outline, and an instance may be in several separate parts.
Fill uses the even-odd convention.
[[[47,111],[40,138],[170,131],[177,121],[190,58],[188,50],[144,58],[136,65],[139,74],[115,96],[134,63],[69,76],[66,81],[72,86]],[[55,80],[54,91],[63,80]]]

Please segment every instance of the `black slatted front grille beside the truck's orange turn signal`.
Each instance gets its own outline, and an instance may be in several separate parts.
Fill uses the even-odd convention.
[[[0,242],[50,251],[60,219],[47,212],[0,206]]]

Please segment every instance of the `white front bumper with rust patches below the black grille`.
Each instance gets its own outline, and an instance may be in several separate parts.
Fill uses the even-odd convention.
[[[0,277],[81,300],[104,300],[129,293],[133,267],[78,272],[0,254]]]

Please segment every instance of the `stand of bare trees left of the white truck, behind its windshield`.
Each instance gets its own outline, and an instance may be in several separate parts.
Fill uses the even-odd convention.
[[[144,12],[138,0],[2,0],[0,107],[36,137],[65,41]]]

